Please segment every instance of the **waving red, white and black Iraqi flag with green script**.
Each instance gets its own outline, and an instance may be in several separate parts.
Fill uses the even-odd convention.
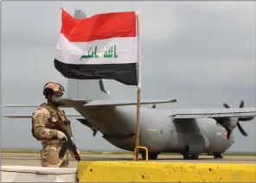
[[[138,85],[135,11],[75,19],[62,9],[55,68],[68,79],[115,79]]]

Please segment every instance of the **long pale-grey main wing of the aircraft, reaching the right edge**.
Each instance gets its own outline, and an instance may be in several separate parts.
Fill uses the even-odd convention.
[[[177,109],[170,117],[183,118],[218,118],[218,117],[256,117],[256,108],[224,109]]]

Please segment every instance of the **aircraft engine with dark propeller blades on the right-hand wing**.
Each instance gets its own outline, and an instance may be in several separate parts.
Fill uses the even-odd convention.
[[[228,104],[223,104],[224,107],[229,108]],[[244,101],[240,102],[240,108],[243,108]],[[221,126],[223,126],[227,130],[227,139],[229,139],[229,136],[231,135],[232,131],[235,127],[238,127],[240,130],[240,133],[243,136],[248,136],[246,131],[241,127],[240,121],[249,121],[252,120],[254,117],[223,117],[223,118],[215,118],[217,123],[220,123]]]

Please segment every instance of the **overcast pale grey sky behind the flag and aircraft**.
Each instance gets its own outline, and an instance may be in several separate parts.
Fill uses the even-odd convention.
[[[2,104],[41,104],[48,80],[67,79],[53,65],[61,29],[61,7],[87,16],[110,11],[141,11],[142,98],[176,98],[163,108],[256,106],[255,2],[2,2]],[[70,83],[68,83],[69,85]],[[136,88],[106,81],[111,98],[136,99]],[[88,95],[88,87],[84,87]],[[121,92],[120,92],[121,91]],[[80,94],[82,95],[82,93]],[[94,99],[94,98],[93,98]],[[32,113],[34,108],[4,110]],[[72,119],[80,149],[117,149],[100,134]],[[256,120],[241,122],[248,137],[234,130],[230,150],[256,151]],[[41,148],[31,136],[30,119],[2,117],[2,148]]]

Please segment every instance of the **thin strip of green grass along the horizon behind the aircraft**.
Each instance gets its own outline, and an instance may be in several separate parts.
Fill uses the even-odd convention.
[[[8,148],[2,148],[2,153],[39,153],[40,150],[36,149],[8,149]],[[80,151],[81,155],[132,155],[133,152],[107,152],[107,151]],[[224,153],[225,155],[236,155],[236,156],[256,156],[256,153],[242,153],[242,152],[227,152]],[[178,153],[162,153],[161,155],[180,155]],[[207,155],[206,153],[203,153],[202,155]]]

